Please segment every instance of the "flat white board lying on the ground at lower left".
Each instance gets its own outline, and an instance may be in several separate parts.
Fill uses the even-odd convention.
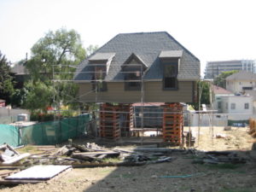
[[[24,171],[5,177],[5,180],[49,180],[72,166],[32,166]]]

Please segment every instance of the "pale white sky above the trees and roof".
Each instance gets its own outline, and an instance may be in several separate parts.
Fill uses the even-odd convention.
[[[201,60],[256,59],[255,0],[0,0],[0,51],[30,56],[49,30],[79,32],[84,48],[121,32],[169,32]]]

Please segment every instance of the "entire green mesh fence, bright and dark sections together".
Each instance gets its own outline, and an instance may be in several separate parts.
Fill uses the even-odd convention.
[[[0,125],[0,145],[8,143],[13,147],[26,144],[54,145],[87,134],[90,114],[50,121],[26,127]]]

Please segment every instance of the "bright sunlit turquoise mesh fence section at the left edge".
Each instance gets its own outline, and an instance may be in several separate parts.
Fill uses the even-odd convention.
[[[8,143],[12,147],[19,146],[19,129],[14,125],[0,125],[0,145],[3,143]]]

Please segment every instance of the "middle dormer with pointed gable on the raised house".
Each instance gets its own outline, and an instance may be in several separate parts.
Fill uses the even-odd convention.
[[[144,70],[148,66],[135,54],[131,54],[122,66],[125,77],[125,90],[141,90]]]

